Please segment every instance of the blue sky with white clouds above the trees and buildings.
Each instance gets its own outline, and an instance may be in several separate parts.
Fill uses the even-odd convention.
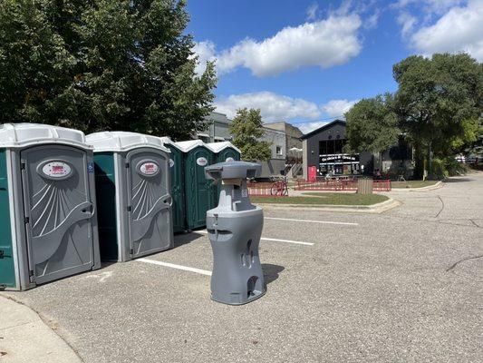
[[[483,0],[189,0],[198,54],[217,68],[216,111],[259,108],[310,132],[354,103],[394,92],[411,54],[483,61]]]

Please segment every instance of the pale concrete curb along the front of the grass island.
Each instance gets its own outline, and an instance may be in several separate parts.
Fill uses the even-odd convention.
[[[388,201],[382,201],[372,205],[306,205],[306,204],[275,204],[275,203],[257,203],[258,207],[265,211],[341,211],[353,213],[375,213],[380,214],[389,211],[401,205],[401,201],[389,198]]]

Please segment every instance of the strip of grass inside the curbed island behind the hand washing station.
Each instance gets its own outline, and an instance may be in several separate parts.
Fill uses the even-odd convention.
[[[357,194],[357,193],[324,193],[306,192],[311,197],[250,197],[257,203],[274,204],[304,204],[304,205],[372,205],[387,201],[388,197],[381,194]],[[315,198],[314,198],[315,197]]]

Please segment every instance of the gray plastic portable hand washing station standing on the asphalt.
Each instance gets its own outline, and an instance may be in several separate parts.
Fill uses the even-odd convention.
[[[246,178],[261,172],[253,162],[219,162],[205,167],[207,179],[221,182],[217,208],[207,211],[213,249],[211,299],[242,305],[266,292],[258,245],[264,215],[250,202]]]

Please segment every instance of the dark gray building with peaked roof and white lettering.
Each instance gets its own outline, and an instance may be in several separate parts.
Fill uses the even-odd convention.
[[[313,132],[304,134],[301,139],[305,180],[310,167],[315,167],[318,176],[328,173],[333,175],[372,174],[373,156],[371,152],[361,152],[360,154],[343,152],[343,146],[347,142],[343,120],[327,123]]]

